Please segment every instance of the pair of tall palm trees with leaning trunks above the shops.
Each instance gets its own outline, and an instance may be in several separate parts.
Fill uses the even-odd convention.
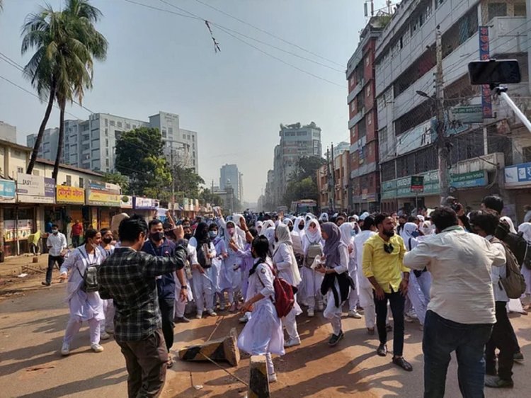
[[[93,26],[100,16],[101,12],[91,6],[88,0],[67,0],[67,6],[62,12],[53,11],[47,6],[26,18],[22,53],[30,47],[36,51],[24,72],[31,79],[40,98],[48,98],[45,117],[28,165],[28,174],[33,170],[42,135],[56,100],[60,109],[59,142],[52,178],[57,181],[67,101],[72,102],[77,98],[82,103],[84,90],[92,88],[93,58],[103,60],[107,53],[107,40]]]

